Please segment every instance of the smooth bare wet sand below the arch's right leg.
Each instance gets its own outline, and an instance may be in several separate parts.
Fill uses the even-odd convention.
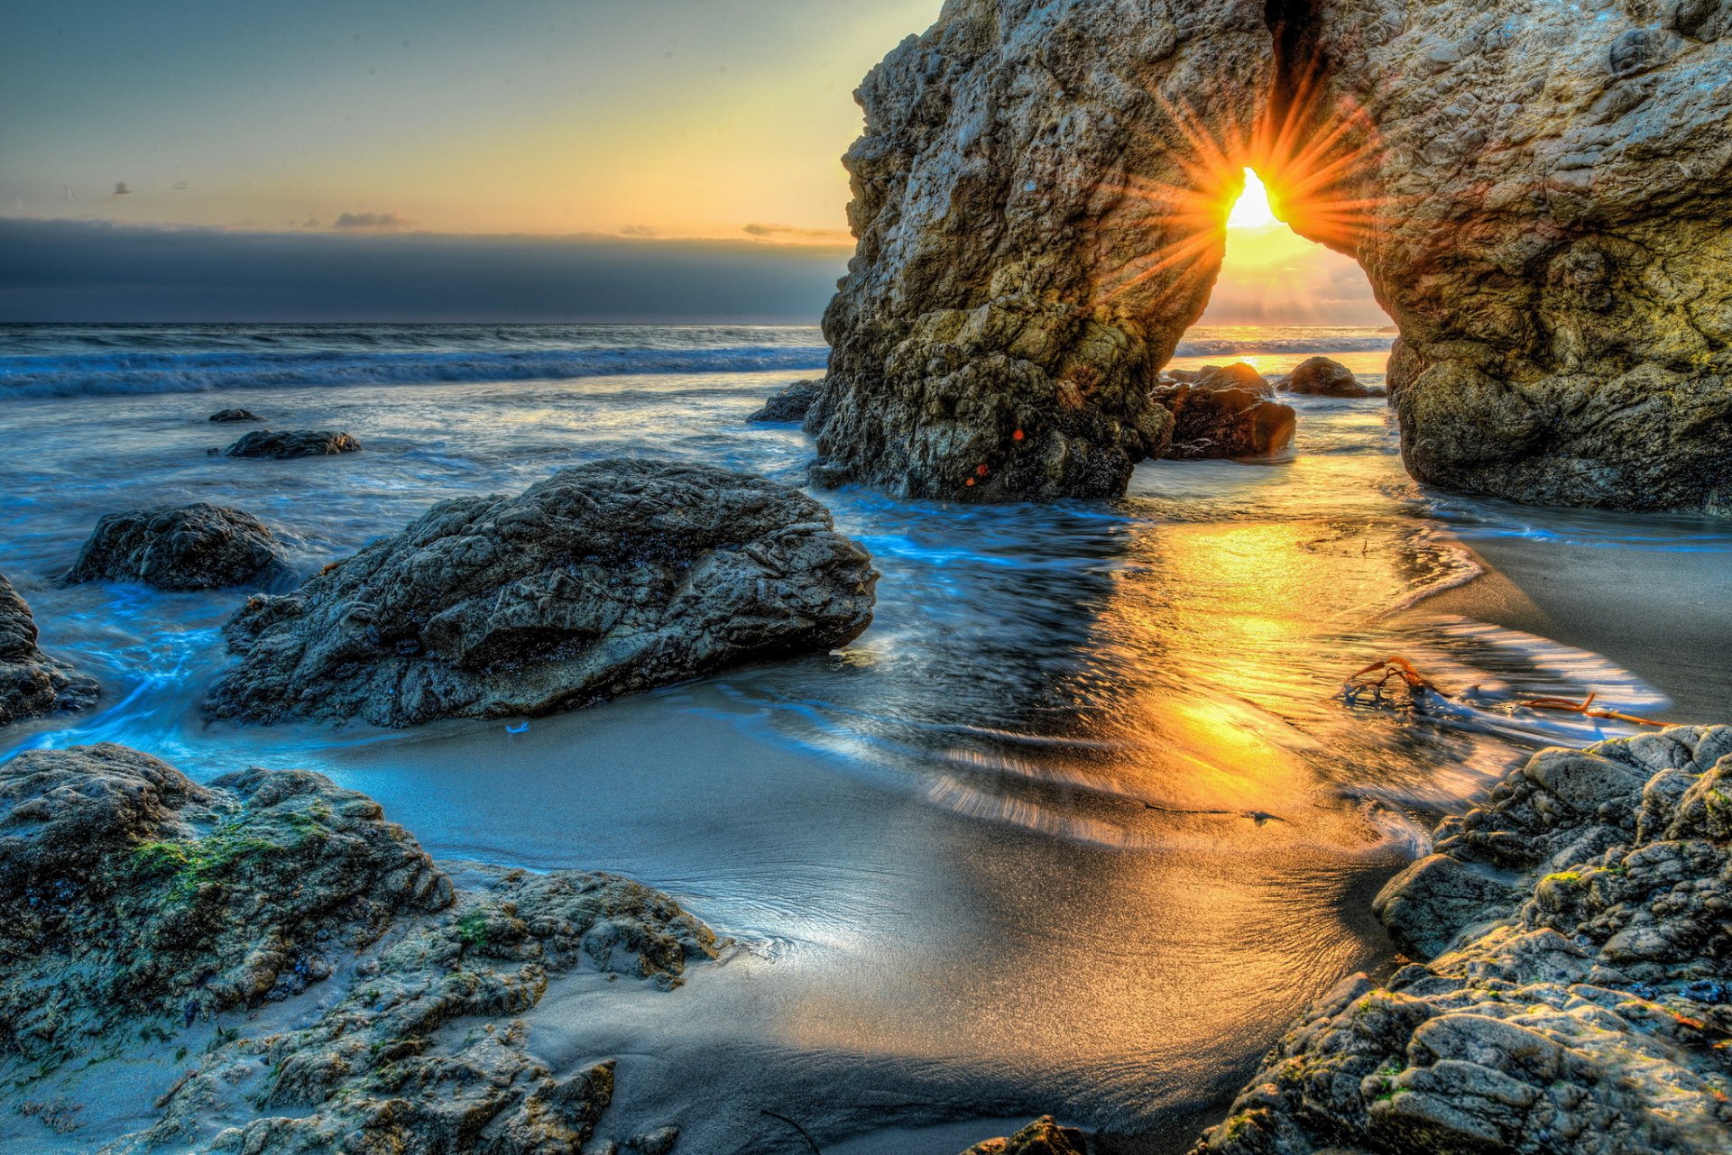
[[[1732,565],[1723,551],[1522,539],[1465,547],[1484,577],[1427,597],[1415,615],[1477,618],[1606,655],[1671,698],[1656,720],[1732,715]]]

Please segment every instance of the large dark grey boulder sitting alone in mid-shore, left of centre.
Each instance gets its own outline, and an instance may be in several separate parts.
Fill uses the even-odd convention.
[[[598,461],[518,497],[442,502],[298,592],[255,597],[206,708],[374,726],[549,713],[847,644],[876,578],[798,490]]]

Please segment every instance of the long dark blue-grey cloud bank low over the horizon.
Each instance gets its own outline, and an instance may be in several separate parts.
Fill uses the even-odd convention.
[[[809,324],[852,246],[0,218],[0,320]]]

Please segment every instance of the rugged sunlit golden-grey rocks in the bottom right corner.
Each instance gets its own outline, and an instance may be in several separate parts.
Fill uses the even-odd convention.
[[[1429,961],[1342,980],[1199,1155],[1732,1150],[1732,727],[1540,752],[1436,847],[1379,897]]]

